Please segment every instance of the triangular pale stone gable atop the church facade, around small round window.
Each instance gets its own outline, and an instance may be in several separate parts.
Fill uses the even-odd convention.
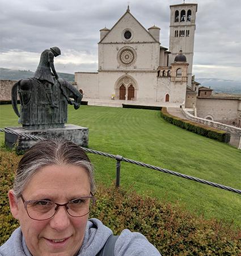
[[[132,33],[132,38],[130,40],[124,39],[124,31],[129,29]],[[136,18],[129,11],[116,22],[116,24],[111,28],[107,35],[104,36],[99,43],[136,43],[136,42],[155,42],[157,41],[153,36],[138,22]]]

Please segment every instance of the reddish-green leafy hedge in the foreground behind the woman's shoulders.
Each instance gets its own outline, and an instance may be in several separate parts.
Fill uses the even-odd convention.
[[[12,187],[20,156],[0,151],[0,245],[19,225],[11,217],[7,191]],[[128,228],[141,232],[163,255],[239,255],[241,230],[232,224],[197,217],[178,204],[98,185],[97,201],[90,217],[96,217],[120,234]]]

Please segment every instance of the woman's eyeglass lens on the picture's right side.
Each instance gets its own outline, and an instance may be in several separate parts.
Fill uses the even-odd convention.
[[[67,212],[73,217],[81,217],[88,214],[94,204],[90,198],[75,199],[67,204]]]

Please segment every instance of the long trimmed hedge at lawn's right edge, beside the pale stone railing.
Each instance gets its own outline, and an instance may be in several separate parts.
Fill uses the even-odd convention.
[[[221,131],[213,127],[201,125],[200,123],[195,123],[186,119],[175,117],[174,115],[171,115],[167,112],[167,108],[162,108],[160,111],[160,116],[167,122],[172,123],[172,125],[179,126],[185,130],[192,131],[192,133],[196,133],[210,139],[225,142],[226,138],[229,137],[229,134],[227,134],[226,131]]]

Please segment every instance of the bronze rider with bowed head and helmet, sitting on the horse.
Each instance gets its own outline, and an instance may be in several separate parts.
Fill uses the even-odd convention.
[[[39,66],[35,72],[36,79],[40,80],[46,85],[46,95],[49,99],[52,108],[58,108],[54,104],[52,86],[54,84],[53,76],[58,80],[58,75],[55,71],[53,59],[61,55],[60,48],[57,46],[45,49],[40,56]]]

